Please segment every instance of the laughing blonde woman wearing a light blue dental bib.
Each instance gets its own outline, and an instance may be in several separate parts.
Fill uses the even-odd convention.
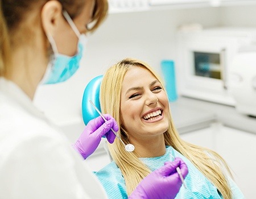
[[[109,198],[127,198],[144,177],[174,157],[188,167],[187,188],[182,185],[176,198],[244,198],[220,155],[180,139],[163,83],[146,63],[125,59],[109,68],[100,103],[102,112],[118,122],[121,139],[135,146],[129,153],[118,139],[109,144],[113,161],[96,173]]]

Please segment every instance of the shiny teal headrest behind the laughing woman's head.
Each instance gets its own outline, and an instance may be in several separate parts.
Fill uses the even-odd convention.
[[[94,109],[92,104],[89,102],[91,100],[94,105],[101,111],[100,105],[100,87],[103,76],[94,77],[84,90],[84,95],[82,96],[82,119],[87,125],[87,123],[99,116],[97,111]]]

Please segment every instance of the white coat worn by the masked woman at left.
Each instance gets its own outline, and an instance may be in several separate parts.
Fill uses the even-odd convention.
[[[0,198],[107,198],[68,139],[2,77]]]

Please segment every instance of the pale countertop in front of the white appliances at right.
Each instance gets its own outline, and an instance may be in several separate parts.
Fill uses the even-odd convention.
[[[179,133],[196,130],[214,121],[256,134],[256,118],[238,113],[233,106],[179,97],[171,102],[172,117]]]

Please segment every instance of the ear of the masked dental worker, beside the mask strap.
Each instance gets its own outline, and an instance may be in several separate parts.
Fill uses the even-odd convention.
[[[41,11],[42,27],[46,34],[54,35],[59,20],[63,20],[62,5],[59,1],[48,1]]]

